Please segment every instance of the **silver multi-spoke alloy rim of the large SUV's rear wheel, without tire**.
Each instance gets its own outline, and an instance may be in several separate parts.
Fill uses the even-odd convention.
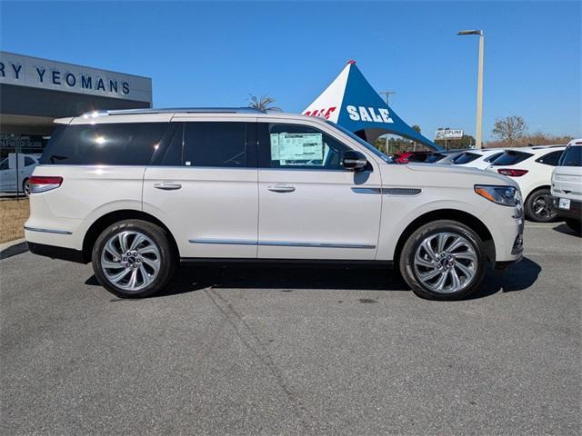
[[[125,292],[137,292],[156,279],[161,254],[146,234],[115,233],[101,253],[101,270],[109,282]]]

